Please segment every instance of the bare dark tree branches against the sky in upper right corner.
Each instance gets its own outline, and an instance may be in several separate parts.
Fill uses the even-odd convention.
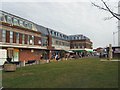
[[[93,3],[93,2],[91,2],[91,3],[92,3],[93,6],[99,8],[101,10],[107,11],[112,15],[112,17],[107,17],[107,18],[105,18],[105,20],[109,20],[111,18],[116,18],[116,19],[120,20],[120,14],[112,11],[104,0],[101,0],[101,2],[103,3],[104,7],[100,6],[100,5],[97,5],[97,4]]]

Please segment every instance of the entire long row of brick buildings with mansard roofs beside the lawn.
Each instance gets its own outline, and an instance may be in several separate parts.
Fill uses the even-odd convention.
[[[0,23],[0,48],[13,61],[40,60],[43,53],[44,59],[51,59],[61,51],[92,49],[86,36],[65,35],[4,11],[0,11]]]

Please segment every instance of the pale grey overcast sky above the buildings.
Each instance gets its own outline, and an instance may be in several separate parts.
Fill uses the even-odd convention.
[[[95,3],[102,5],[99,0]],[[108,0],[108,4],[117,12],[115,0]],[[118,44],[117,34],[113,43],[117,19],[104,21],[111,14],[93,7],[90,0],[3,0],[0,5],[1,10],[64,34],[83,34],[94,48]]]

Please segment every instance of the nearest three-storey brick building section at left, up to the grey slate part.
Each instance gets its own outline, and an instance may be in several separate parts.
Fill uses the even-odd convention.
[[[41,33],[34,23],[6,12],[0,12],[0,47],[13,61],[39,60]]]

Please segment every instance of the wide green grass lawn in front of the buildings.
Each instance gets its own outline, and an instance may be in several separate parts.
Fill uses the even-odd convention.
[[[84,58],[3,71],[6,88],[118,88],[118,62]]]

